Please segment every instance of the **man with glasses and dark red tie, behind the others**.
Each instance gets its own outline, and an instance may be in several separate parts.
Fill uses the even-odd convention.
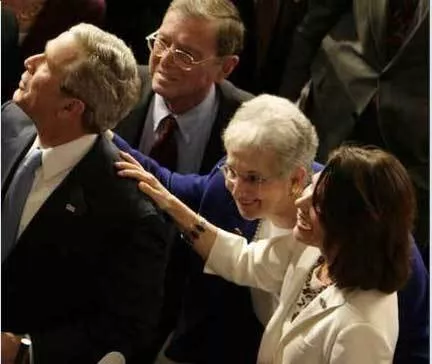
[[[172,116],[177,155],[170,169],[209,172],[224,154],[221,131],[252,97],[225,80],[239,62],[243,37],[230,1],[174,0],[159,29],[147,36],[151,54],[140,70],[141,100],[115,131],[152,155],[158,127]]]

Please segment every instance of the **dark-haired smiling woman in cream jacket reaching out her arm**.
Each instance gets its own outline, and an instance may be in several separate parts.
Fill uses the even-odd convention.
[[[230,160],[232,150],[227,151]],[[197,216],[130,156],[125,158],[128,162],[120,165],[127,169],[120,174],[137,178],[140,189],[175,219],[209,272],[279,296],[258,363],[392,362],[396,291],[409,276],[414,212],[411,182],[394,157],[380,150],[337,150],[296,201],[296,239],[281,235],[249,245]],[[245,166],[245,174],[263,166],[239,161],[236,167]],[[235,184],[247,185],[248,179],[239,176]],[[256,202],[258,197],[243,199],[236,187],[231,193],[242,215],[253,211],[250,216],[274,221],[272,205]],[[276,196],[275,201],[282,197]],[[290,221],[289,210],[276,211],[280,218],[285,211]]]

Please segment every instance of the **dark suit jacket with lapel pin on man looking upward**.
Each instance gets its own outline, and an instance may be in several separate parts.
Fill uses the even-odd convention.
[[[35,135],[18,106],[3,106],[2,195]],[[117,154],[99,136],[2,264],[2,331],[30,334],[36,364],[95,364],[113,350],[133,363],[152,338],[174,234],[117,176]]]

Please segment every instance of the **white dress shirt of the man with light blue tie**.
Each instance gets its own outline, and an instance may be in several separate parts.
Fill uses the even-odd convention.
[[[90,150],[96,138],[96,134],[87,134],[66,144],[43,148],[40,145],[39,137],[36,137],[29,153],[35,148],[40,148],[42,150],[42,166],[36,170],[32,188],[24,205],[18,237],[51,193]]]

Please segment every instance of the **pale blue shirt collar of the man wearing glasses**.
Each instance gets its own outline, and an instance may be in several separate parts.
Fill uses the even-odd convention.
[[[207,93],[207,96],[198,105],[186,111],[183,114],[173,114],[165,104],[162,96],[155,94],[155,103],[153,109],[153,130],[155,131],[160,121],[168,115],[173,115],[176,120],[182,137],[186,143],[190,141],[190,135],[195,129],[200,128],[197,120],[206,120],[208,115],[213,115],[217,108],[216,87],[213,84]]]

